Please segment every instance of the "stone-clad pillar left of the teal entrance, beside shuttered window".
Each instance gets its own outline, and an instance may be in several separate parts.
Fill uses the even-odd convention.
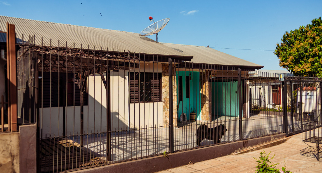
[[[163,116],[163,123],[165,125],[169,124],[169,65],[162,64],[162,116]],[[177,125],[177,111],[176,111],[176,88],[177,84],[175,82],[175,66],[172,69],[172,105],[173,105],[173,125]]]

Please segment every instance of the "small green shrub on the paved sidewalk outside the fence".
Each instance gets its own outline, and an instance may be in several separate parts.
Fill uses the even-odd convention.
[[[274,159],[275,154],[273,157],[270,157],[270,153],[266,154],[265,151],[261,151],[260,152],[260,157],[258,157],[259,159],[254,158],[257,162],[258,165],[256,166],[256,173],[292,173],[290,171],[286,170],[286,166],[284,164],[284,167],[282,167],[282,170],[279,170],[278,168],[276,168],[276,165],[278,165],[279,163],[275,163],[272,164],[272,162],[270,161],[271,159]],[[285,162],[285,159],[284,159]]]

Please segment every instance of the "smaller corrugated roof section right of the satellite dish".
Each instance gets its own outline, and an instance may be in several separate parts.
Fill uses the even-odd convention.
[[[240,65],[240,66],[260,66],[258,64],[237,58],[215,50],[213,48],[204,46],[192,46],[192,45],[181,45],[172,43],[162,43],[170,48],[176,49],[178,52],[181,50],[186,55],[194,56],[193,62],[204,63],[204,64],[216,64],[216,65]]]

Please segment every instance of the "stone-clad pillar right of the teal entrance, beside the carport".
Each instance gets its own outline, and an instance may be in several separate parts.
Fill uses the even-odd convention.
[[[201,120],[210,121],[209,71],[200,72]]]

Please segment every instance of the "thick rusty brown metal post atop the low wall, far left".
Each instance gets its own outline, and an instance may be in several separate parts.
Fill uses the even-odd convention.
[[[17,60],[16,37],[14,25],[7,22],[7,78],[8,78],[8,115],[10,115],[11,132],[17,128]]]

